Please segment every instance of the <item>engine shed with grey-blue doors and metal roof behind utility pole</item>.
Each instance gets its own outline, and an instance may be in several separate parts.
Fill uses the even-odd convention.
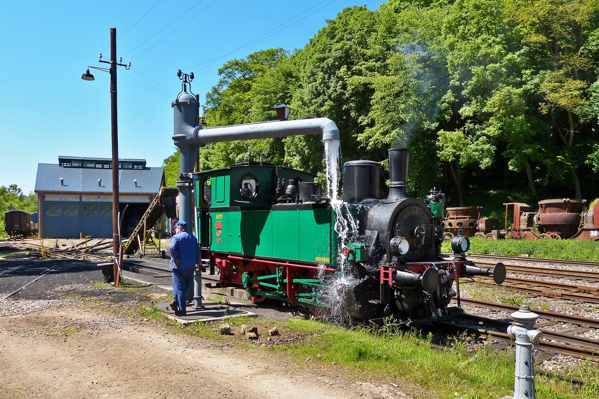
[[[39,163],[35,179],[41,238],[112,237],[112,160],[59,156]],[[126,237],[165,185],[162,167],[119,159],[121,234]]]

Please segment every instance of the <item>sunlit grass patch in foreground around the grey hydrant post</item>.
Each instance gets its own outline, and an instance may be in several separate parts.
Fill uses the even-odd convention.
[[[453,340],[440,351],[429,346],[429,337],[416,331],[383,331],[375,335],[367,330],[348,331],[314,321],[292,320],[286,324],[322,331],[302,345],[280,348],[301,362],[310,358],[378,376],[413,380],[439,398],[495,399],[513,392],[513,351],[482,348],[471,354],[464,350],[463,339]],[[595,381],[588,388],[573,387],[559,379],[543,379],[537,383],[537,397],[596,398],[599,369],[589,363],[585,373],[589,382]]]

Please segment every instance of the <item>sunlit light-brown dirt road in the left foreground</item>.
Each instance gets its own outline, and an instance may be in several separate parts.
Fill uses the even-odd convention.
[[[0,300],[0,398],[421,397],[416,387],[408,396],[390,383],[338,377],[347,375],[341,369],[319,371],[276,352],[173,333],[163,321],[120,312],[135,296],[113,301],[114,312],[89,306],[113,299],[113,289],[75,274],[81,281],[66,286],[60,281],[68,279],[55,278],[44,290],[52,299],[32,298],[30,289]]]

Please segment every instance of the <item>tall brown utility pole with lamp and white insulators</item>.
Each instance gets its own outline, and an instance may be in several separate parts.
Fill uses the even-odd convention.
[[[100,62],[110,64],[108,68],[98,68],[88,66],[87,71],[81,75],[81,79],[95,80],[89,73],[89,68],[98,69],[98,71],[110,72],[110,115],[111,115],[111,138],[112,138],[112,172],[113,172],[113,278],[114,287],[119,287],[119,257],[120,254],[120,234],[119,234],[119,140],[117,129],[117,107],[116,107],[116,67],[124,66],[125,69],[131,68],[131,62],[123,64],[122,57],[119,62],[116,60],[116,28],[110,28],[110,61],[102,60],[102,53],[99,54]]]

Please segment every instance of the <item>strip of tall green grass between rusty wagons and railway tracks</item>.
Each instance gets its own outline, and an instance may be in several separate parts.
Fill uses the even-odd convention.
[[[446,240],[441,248],[451,252],[451,243]],[[520,256],[531,258],[560,259],[599,262],[599,242],[590,240],[491,240],[471,237],[468,254]]]

